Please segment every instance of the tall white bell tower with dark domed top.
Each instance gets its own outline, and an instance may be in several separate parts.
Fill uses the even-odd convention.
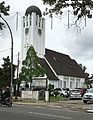
[[[42,18],[40,9],[30,6],[22,20],[22,61],[26,57],[27,50],[33,46],[38,57],[45,55],[45,19]]]

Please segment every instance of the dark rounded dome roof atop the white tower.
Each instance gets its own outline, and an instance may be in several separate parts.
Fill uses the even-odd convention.
[[[27,8],[25,15],[31,14],[32,12],[35,12],[37,15],[39,15],[40,17],[42,17],[42,13],[41,10],[36,7],[36,6],[30,6]]]

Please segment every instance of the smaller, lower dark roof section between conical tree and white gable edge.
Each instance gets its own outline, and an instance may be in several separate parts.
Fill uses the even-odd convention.
[[[39,61],[40,61],[40,65],[45,69],[48,79],[59,80],[58,77],[56,77],[56,75],[53,73],[53,71],[51,70],[45,59],[39,58]]]

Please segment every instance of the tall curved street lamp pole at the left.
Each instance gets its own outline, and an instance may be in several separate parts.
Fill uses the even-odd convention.
[[[9,29],[10,35],[11,35],[11,96],[12,96],[12,91],[13,91],[13,35],[12,35],[12,31],[11,31],[9,24],[1,16],[1,14],[0,14],[0,18],[6,23],[8,29]]]

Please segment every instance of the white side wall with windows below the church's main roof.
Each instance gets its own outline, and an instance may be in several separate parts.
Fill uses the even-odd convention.
[[[50,80],[49,84],[54,85],[54,88],[82,88],[84,86],[84,78],[58,76],[59,80]]]

